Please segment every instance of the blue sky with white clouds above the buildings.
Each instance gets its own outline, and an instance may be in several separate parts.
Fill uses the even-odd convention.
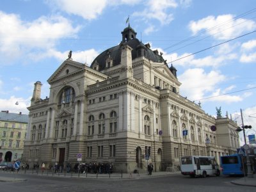
[[[212,116],[221,106],[238,124],[243,109],[244,124],[256,127],[253,0],[2,0],[0,109],[28,114],[36,81],[42,98],[49,96],[47,79],[68,52],[90,65],[120,43],[128,15],[137,38],[177,68],[182,96],[200,101]]]

